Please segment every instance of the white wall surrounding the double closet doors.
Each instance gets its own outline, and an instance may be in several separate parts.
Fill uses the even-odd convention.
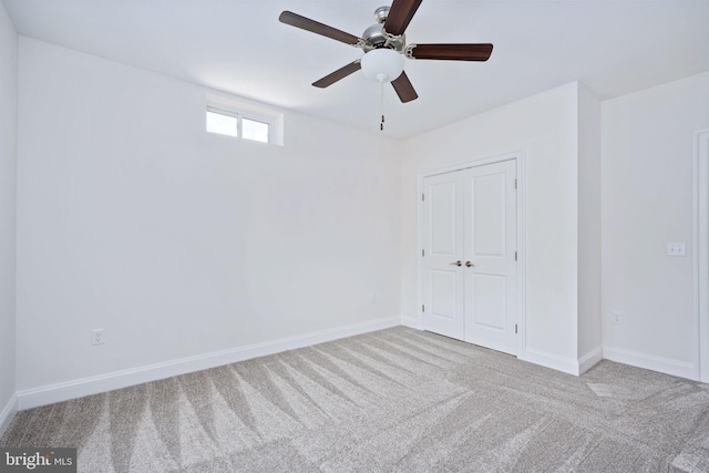
[[[571,83],[402,143],[402,312],[417,325],[418,176],[523,151],[526,173],[526,353],[573,372],[578,359],[578,84]]]

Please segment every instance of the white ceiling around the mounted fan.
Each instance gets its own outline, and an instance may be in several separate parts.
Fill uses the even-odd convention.
[[[361,72],[310,84],[361,50],[278,21],[290,10],[361,35],[390,0],[2,0],[22,35],[364,130]],[[419,99],[387,86],[384,133],[408,137],[578,80],[600,100],[709,70],[709,0],[423,0],[408,42],[491,42],[487,62],[408,60]]]

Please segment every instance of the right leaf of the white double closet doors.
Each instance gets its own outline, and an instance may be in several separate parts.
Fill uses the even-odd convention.
[[[516,354],[515,161],[465,171],[465,341]]]

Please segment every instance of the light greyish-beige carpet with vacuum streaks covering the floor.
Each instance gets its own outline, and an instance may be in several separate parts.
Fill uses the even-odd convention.
[[[709,472],[709,385],[403,327],[19,412],[80,472]]]

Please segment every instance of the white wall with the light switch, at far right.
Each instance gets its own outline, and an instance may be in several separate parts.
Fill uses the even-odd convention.
[[[696,378],[692,132],[709,127],[709,73],[602,111],[604,353]],[[685,241],[687,256],[667,256],[669,241]]]

